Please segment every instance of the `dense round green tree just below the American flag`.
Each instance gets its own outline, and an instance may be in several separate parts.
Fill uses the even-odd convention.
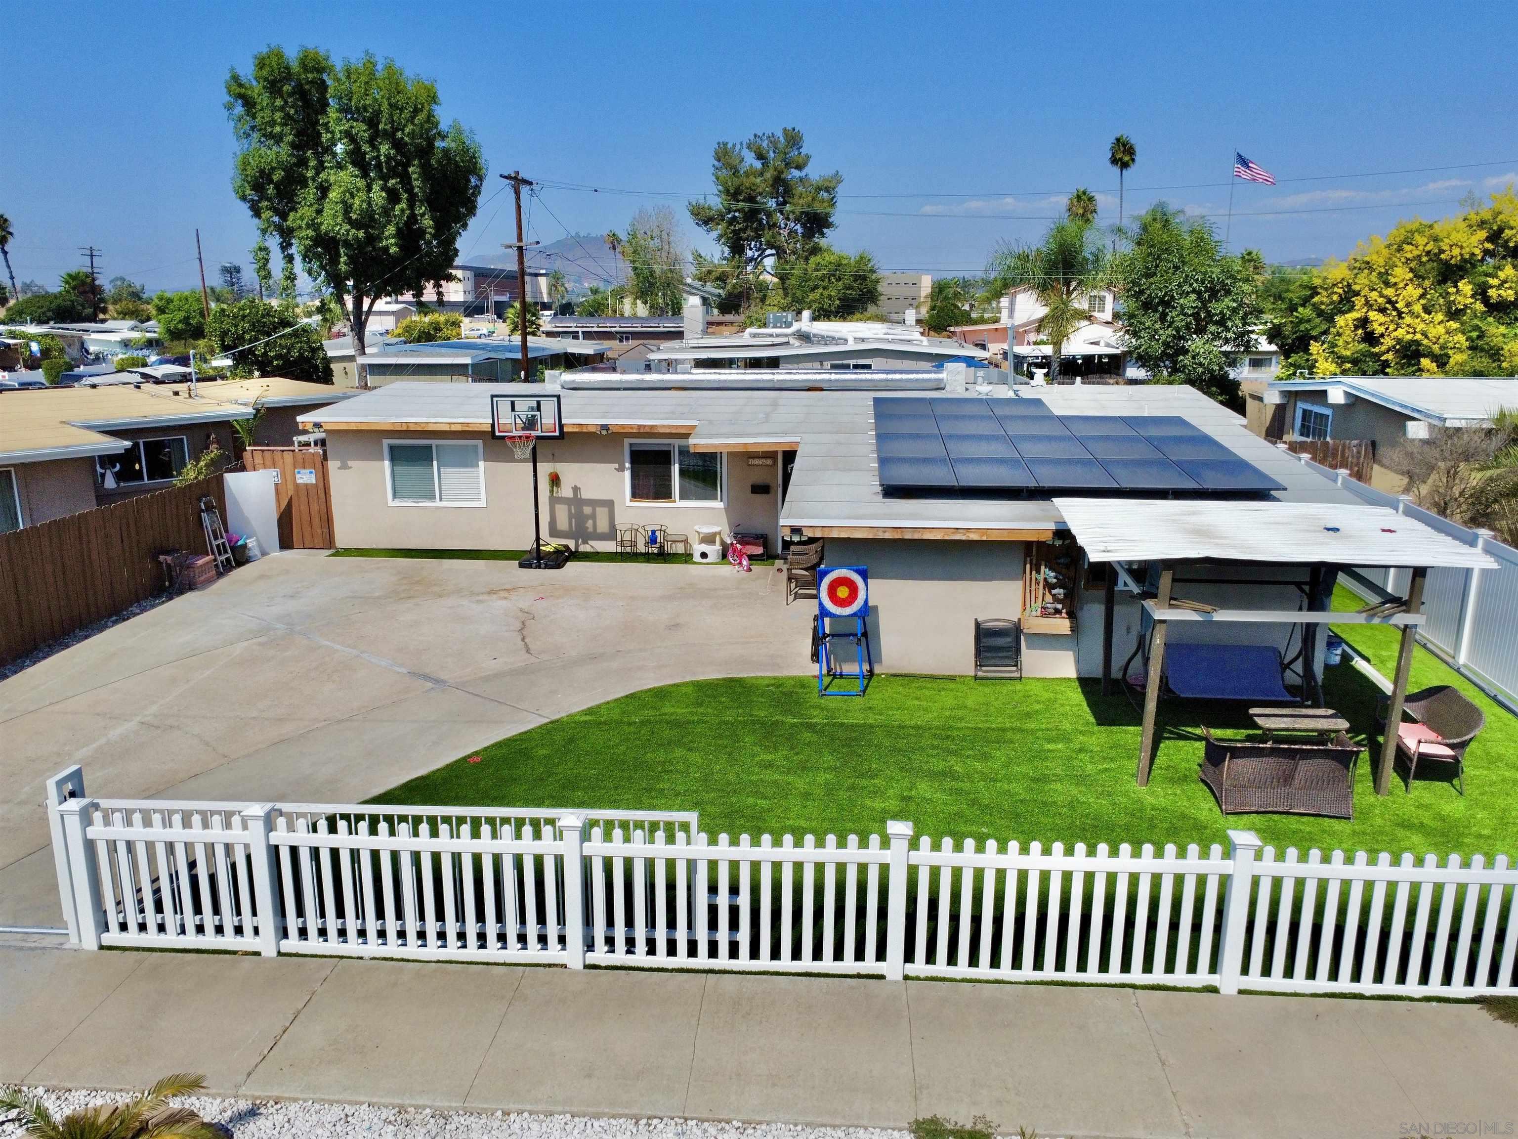
[[[1158,383],[1190,384],[1239,410],[1230,369],[1255,342],[1260,269],[1257,254],[1225,254],[1205,219],[1152,205],[1116,261],[1128,355]]]

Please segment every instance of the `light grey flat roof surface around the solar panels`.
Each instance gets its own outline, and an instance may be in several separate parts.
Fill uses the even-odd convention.
[[[619,378],[619,377],[618,377]],[[669,386],[565,387],[563,419],[569,431],[644,428],[689,439],[710,450],[797,448],[795,468],[780,521],[838,536],[952,536],[956,532],[1008,539],[1044,533],[1061,524],[1058,507],[1037,495],[1017,498],[894,497],[880,487],[876,465],[871,390],[736,390]],[[1000,390],[1006,390],[1002,387]],[[1032,398],[1019,389],[1014,398]],[[396,383],[364,392],[339,409],[302,415],[302,425],[328,431],[405,430],[419,433],[490,430],[492,395],[551,395],[543,384]],[[953,393],[944,392],[955,398]],[[973,390],[964,398],[981,398]],[[1005,399],[1008,396],[994,396]],[[1287,501],[1357,503],[1348,491],[1304,466],[1295,456],[1252,434],[1239,415],[1190,387],[1043,387],[1038,396],[1058,415],[1175,415],[1195,424],[1286,489]],[[1196,503],[1189,504],[1198,510]],[[1207,509],[1211,509],[1208,506]]]

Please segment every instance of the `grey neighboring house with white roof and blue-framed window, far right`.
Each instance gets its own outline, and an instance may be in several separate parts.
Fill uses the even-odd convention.
[[[1518,378],[1469,375],[1331,375],[1245,383],[1249,430],[1263,439],[1368,439],[1374,484],[1398,494],[1406,478],[1384,460],[1430,427],[1488,427],[1518,410]]]

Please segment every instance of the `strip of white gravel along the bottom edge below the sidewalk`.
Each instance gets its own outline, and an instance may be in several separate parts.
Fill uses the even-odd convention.
[[[120,1092],[27,1089],[55,1113],[118,1103]],[[689,1119],[589,1119],[574,1115],[446,1112],[427,1107],[220,1100],[187,1095],[175,1104],[223,1124],[235,1139],[903,1139],[905,1131],[870,1127],[789,1124],[704,1124]],[[17,1124],[0,1122],[0,1139],[18,1139]]]

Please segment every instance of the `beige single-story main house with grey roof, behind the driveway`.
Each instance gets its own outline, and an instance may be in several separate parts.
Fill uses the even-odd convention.
[[[926,413],[943,424],[958,415],[956,404],[979,398],[950,390],[953,383],[949,369],[566,375],[559,386],[402,383],[320,409],[302,422],[320,422],[326,431],[342,547],[525,548],[533,535],[531,465],[492,437],[490,398],[559,395],[565,437],[537,448],[545,538],[607,551],[615,550],[619,527],[650,524],[691,539],[700,525],[762,532],[771,550],[782,536],[821,538],[827,563],[868,566],[871,639],[880,667],[893,671],[968,673],[975,618],[1019,617],[1028,601],[1028,568],[1063,565],[1075,589],[1073,620],[1050,620],[1040,609],[1038,620],[1025,624],[1026,670],[1098,674],[1102,579],[1078,559],[1072,563],[1070,547],[1052,544],[1066,530],[1047,475],[1052,471],[1058,483],[1067,460],[1041,468],[1046,477],[1038,489],[964,492],[950,486],[935,492],[882,484],[874,399],[905,396],[897,416]],[[1046,387],[1037,398],[1026,392],[985,398],[981,409],[1020,405],[1029,413],[1126,422],[1170,416],[1157,421],[1152,434],[1190,433],[1189,446],[1216,448],[1228,456],[1224,466],[1258,478],[1260,489],[1236,497],[1357,503],[1189,387]],[[1135,454],[1143,439],[1126,422],[1104,419],[1102,428],[1126,433],[1123,442],[1132,450],[1123,454]],[[908,442],[918,439],[908,436]],[[1187,484],[1196,486],[1173,486]],[[1271,486],[1280,489],[1264,489]],[[1135,492],[1119,484],[1101,494]],[[1299,604],[1295,585],[1251,582],[1243,592],[1248,600],[1239,607]],[[1138,606],[1125,600],[1116,618],[1120,665],[1138,632]],[[1193,623],[1175,635],[1214,633]],[[1271,641],[1293,633],[1284,626],[1233,626],[1216,635]]]

